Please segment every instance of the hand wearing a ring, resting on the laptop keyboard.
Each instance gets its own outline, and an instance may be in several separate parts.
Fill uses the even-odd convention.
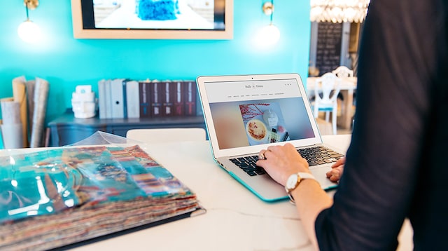
[[[290,143],[261,150],[257,165],[265,168],[272,179],[283,186],[293,173],[309,172],[307,160]]]

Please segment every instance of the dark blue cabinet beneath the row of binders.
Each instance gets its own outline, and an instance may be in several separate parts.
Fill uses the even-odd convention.
[[[162,118],[75,118],[66,112],[48,123],[50,147],[73,144],[98,130],[126,137],[127,130],[148,128],[204,128],[203,116]]]

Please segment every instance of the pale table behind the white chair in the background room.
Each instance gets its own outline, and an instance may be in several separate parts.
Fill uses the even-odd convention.
[[[308,96],[314,95],[314,84],[316,83],[316,79],[318,79],[318,77],[309,77],[307,79]],[[344,97],[344,102],[342,104],[341,116],[337,118],[337,125],[344,129],[350,129],[351,117],[353,116],[353,91],[356,90],[358,78],[353,76],[341,79],[341,90],[339,93]]]

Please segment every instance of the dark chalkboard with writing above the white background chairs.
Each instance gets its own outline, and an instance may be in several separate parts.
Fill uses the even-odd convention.
[[[318,23],[316,68],[319,70],[319,76],[340,65],[341,43],[342,23]]]

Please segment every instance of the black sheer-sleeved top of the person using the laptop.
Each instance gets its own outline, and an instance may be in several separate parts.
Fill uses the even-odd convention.
[[[344,175],[316,219],[321,250],[395,250],[406,217],[415,250],[446,249],[447,6],[372,0]]]

